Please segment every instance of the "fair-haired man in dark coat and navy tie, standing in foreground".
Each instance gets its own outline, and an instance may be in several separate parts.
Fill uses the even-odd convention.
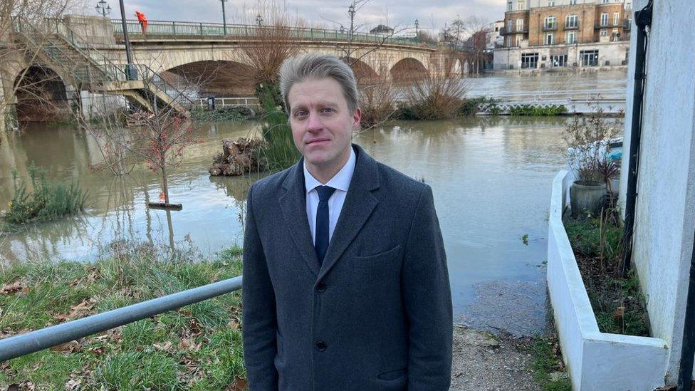
[[[303,159],[249,189],[251,390],[447,390],[451,291],[432,190],[352,145],[350,68],[291,58],[280,88]]]

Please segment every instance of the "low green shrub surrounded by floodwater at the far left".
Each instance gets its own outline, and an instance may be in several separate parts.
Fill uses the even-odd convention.
[[[9,203],[9,211],[4,214],[5,221],[11,224],[25,224],[31,220],[53,220],[68,214],[80,212],[87,194],[77,184],[53,183],[46,180],[46,173],[33,164],[29,176],[33,192],[28,192],[23,179],[12,172],[14,197]]]

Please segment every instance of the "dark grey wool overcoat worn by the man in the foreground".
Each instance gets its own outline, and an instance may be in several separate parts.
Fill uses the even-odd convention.
[[[353,145],[319,268],[303,162],[249,189],[244,358],[251,390],[447,390],[451,291],[432,189]]]

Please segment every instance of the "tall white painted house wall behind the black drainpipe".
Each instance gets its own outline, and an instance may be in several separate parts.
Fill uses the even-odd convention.
[[[647,0],[634,1],[634,10]],[[669,345],[667,383],[676,381],[695,231],[695,2],[654,1],[640,147],[633,262],[652,333]],[[678,31],[674,34],[674,31]],[[637,31],[633,24],[620,201],[625,201]],[[674,39],[676,38],[676,39]]]

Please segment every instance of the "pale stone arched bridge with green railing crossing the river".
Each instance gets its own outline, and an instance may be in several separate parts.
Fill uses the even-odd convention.
[[[66,30],[60,26],[68,27]],[[218,97],[248,96],[253,93],[251,75],[254,60],[253,55],[249,56],[249,48],[267,45],[268,40],[263,38],[263,34],[271,29],[263,26],[150,21],[147,33],[143,33],[137,21],[127,21],[126,26],[134,63],[155,70],[177,88],[190,90],[190,95],[214,94]],[[47,22],[45,28],[51,31],[51,22]],[[66,16],[56,21],[55,30],[68,38],[67,41],[78,51],[80,45],[88,45],[90,53],[98,53],[95,60],[98,63],[123,67],[127,63],[120,20]],[[469,61],[471,55],[466,48],[457,48],[452,53],[441,50],[438,43],[364,33],[355,33],[352,39],[349,38],[345,31],[286,28],[283,30],[282,44],[293,47],[297,53],[326,53],[345,58],[345,53],[349,52],[353,71],[360,80],[378,75],[399,82],[427,73],[441,75],[445,72],[451,72],[454,77],[463,77],[472,68],[469,66],[472,63]],[[50,61],[29,62],[26,58],[18,57],[15,61],[0,65],[0,76],[4,80],[2,90],[6,96],[14,91],[8,80],[19,80],[16,75],[27,70],[32,76],[31,83],[45,90],[30,95],[51,96],[51,100],[58,102],[58,112],[66,112],[68,106],[75,106],[72,104],[75,101],[84,103],[94,93],[85,93],[78,85],[80,83],[74,82],[73,75],[68,74],[70,71],[61,71]],[[41,78],[49,78],[50,82],[37,83]],[[31,104],[23,102],[26,99],[16,97],[19,111],[31,108]],[[65,100],[62,108],[61,100]],[[19,111],[18,116],[22,118]]]

